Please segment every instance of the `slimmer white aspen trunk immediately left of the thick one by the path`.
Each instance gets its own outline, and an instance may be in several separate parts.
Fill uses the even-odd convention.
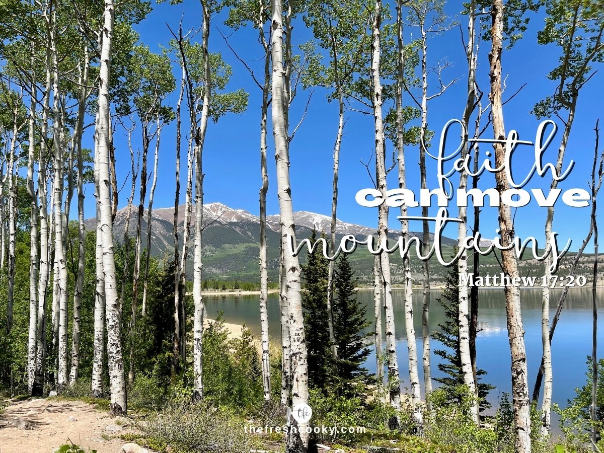
[[[97,200],[96,228],[96,287],[94,294],[94,342],[92,346],[92,397],[103,397],[103,362],[105,342],[105,277],[103,273],[103,231],[101,230],[101,213],[98,193],[98,144],[94,156],[94,197]]]

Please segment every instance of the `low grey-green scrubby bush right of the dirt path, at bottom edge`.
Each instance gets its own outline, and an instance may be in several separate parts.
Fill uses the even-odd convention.
[[[213,408],[206,401],[170,405],[137,425],[154,449],[164,446],[162,449],[173,452],[249,451],[249,435],[243,431],[243,420]]]

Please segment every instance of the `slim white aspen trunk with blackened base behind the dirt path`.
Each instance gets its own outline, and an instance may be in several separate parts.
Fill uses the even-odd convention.
[[[38,313],[36,327],[36,371],[32,396],[42,396],[46,362],[46,309],[48,302],[48,280],[50,278],[50,249],[48,247],[48,198],[46,174],[46,138],[48,133],[48,112],[50,106],[50,46],[46,51],[46,83],[42,100],[42,124],[40,125],[40,153],[38,164],[37,190],[39,195],[38,217],[40,221],[40,266],[38,278]]]

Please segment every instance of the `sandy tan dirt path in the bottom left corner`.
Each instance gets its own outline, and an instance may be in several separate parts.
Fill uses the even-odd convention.
[[[129,429],[126,419],[82,401],[33,399],[0,416],[0,453],[53,453],[67,439],[85,450],[119,453],[126,441],[115,438]]]

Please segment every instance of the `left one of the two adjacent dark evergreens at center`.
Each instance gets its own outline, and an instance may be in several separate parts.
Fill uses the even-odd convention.
[[[315,242],[316,232],[310,237]],[[327,277],[329,263],[320,248],[308,255],[308,262],[302,266],[306,291],[302,294],[304,310],[304,336],[308,353],[308,374],[310,387],[325,388],[332,374],[333,361],[327,324]]]

